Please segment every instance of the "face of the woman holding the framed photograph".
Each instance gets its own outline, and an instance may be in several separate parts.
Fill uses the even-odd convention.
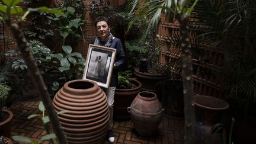
[[[99,21],[96,28],[98,36],[101,37],[101,41],[106,41],[108,39],[108,34],[110,33],[110,27],[108,27],[108,24],[105,21]]]

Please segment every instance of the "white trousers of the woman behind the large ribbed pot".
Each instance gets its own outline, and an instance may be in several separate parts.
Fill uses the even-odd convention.
[[[116,87],[102,88],[107,95],[108,108],[110,110],[110,119],[108,122],[108,130],[112,129],[113,126],[113,108],[114,108],[114,92]]]

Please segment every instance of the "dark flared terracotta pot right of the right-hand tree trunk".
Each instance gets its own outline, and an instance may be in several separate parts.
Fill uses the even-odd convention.
[[[219,98],[196,95],[194,96],[194,105],[196,143],[222,143],[222,130],[216,132],[216,128],[222,127],[223,116],[229,108],[229,104]]]

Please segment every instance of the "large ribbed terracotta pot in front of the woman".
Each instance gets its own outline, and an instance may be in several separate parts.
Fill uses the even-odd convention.
[[[109,111],[107,97],[95,82],[66,82],[53,99],[69,143],[103,143],[107,133]]]

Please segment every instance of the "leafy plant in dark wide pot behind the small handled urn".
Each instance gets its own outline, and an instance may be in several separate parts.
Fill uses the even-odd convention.
[[[159,49],[149,42],[140,44],[137,40],[130,40],[126,47],[129,55],[128,67],[134,69],[137,80],[142,83],[143,91],[158,93],[156,84],[167,76],[158,62]],[[159,94],[157,95],[159,97]]]

